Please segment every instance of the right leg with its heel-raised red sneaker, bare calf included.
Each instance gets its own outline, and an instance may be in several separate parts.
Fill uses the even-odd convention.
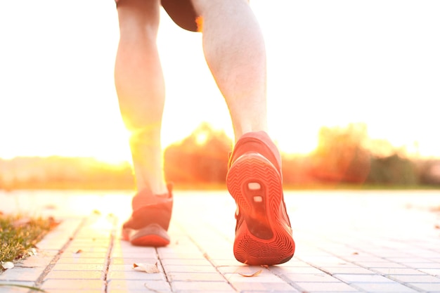
[[[226,176],[237,203],[234,254],[242,263],[292,258],[295,242],[283,197],[281,158],[268,137],[266,52],[245,0],[193,0],[203,18],[205,58],[228,104],[235,147]]]

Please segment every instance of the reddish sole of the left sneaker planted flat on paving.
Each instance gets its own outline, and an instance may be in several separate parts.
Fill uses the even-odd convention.
[[[162,247],[169,245],[167,231],[157,224],[151,224],[138,230],[124,228],[122,239],[135,246]]]

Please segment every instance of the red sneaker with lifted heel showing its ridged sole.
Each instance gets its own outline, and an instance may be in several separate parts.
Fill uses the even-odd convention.
[[[285,209],[281,157],[266,132],[247,133],[238,140],[226,185],[237,203],[235,259],[251,266],[292,259],[295,242]]]

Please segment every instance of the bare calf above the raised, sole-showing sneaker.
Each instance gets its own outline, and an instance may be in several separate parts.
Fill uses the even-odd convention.
[[[266,49],[246,0],[193,0],[203,18],[203,48],[223,93],[235,141],[250,131],[267,131]]]

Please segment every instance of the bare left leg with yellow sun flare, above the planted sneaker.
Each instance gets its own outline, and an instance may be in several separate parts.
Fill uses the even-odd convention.
[[[120,39],[115,63],[119,108],[127,129],[138,190],[167,193],[160,129],[164,77],[156,46],[159,0],[119,0]]]

